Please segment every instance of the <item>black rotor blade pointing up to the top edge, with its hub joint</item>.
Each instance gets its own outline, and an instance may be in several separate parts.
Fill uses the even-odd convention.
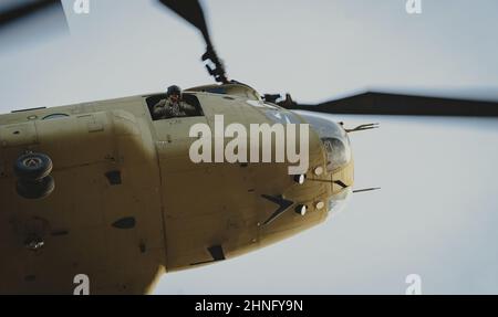
[[[206,41],[206,53],[203,55],[203,61],[210,60],[215,64],[215,68],[207,65],[207,71],[215,77],[217,82],[228,83],[226,76],[225,66],[216,54],[215,46],[212,45],[211,38],[206,24],[206,18],[204,15],[203,7],[198,0],[159,0],[160,3],[168,7],[178,15],[184,18],[190,24],[196,27],[203,38]]]

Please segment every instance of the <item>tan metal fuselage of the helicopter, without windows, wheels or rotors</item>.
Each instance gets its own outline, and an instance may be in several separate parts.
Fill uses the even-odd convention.
[[[204,116],[152,120],[144,96],[0,116],[1,294],[72,294],[76,274],[89,276],[91,294],[149,293],[165,272],[214,263],[219,250],[230,258],[322,222],[328,211],[317,202],[341,190],[331,181],[352,184],[353,163],[313,173],[325,155],[312,131],[303,184],[289,163],[194,163],[193,124],[212,127],[217,114],[227,125],[272,121],[248,97],[191,94]],[[42,119],[53,114],[68,116]],[[12,165],[25,150],[53,160],[55,190],[44,199],[15,192]],[[292,207],[264,224],[279,205],[263,196]],[[294,212],[299,204],[305,215]],[[25,247],[33,235],[44,241],[38,251]]]

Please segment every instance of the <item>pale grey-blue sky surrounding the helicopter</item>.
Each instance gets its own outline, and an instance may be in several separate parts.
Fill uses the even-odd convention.
[[[320,102],[366,88],[498,101],[498,2],[204,1],[231,78]],[[91,0],[71,35],[0,33],[0,110],[211,83],[200,35],[155,1]],[[24,36],[24,38],[23,38]],[[7,40],[6,40],[7,39]],[[17,39],[17,40],[13,40]],[[31,40],[31,39],[30,39]],[[158,294],[498,293],[496,119],[335,116],[352,136],[356,187],[338,216],[264,250],[165,275]]]

